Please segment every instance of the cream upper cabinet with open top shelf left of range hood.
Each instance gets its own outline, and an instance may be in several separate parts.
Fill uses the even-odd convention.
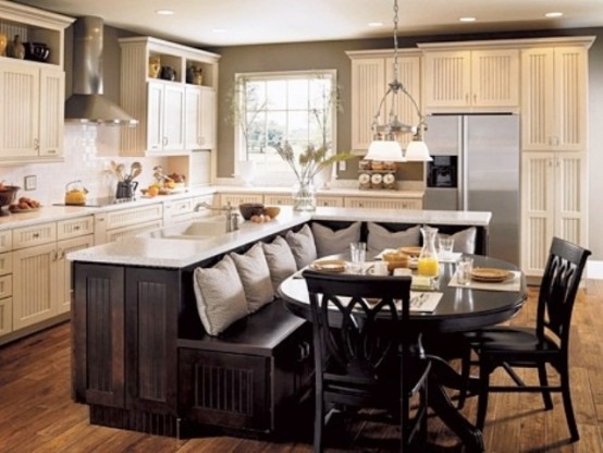
[[[19,35],[23,42],[42,42],[50,49],[45,61],[28,53],[23,60],[7,51],[0,54],[0,162],[62,159],[64,29],[73,21],[0,0],[0,33],[10,41]]]

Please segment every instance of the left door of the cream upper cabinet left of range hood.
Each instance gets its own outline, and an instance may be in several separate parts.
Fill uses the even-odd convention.
[[[39,152],[40,70],[0,65],[0,157],[32,158]]]

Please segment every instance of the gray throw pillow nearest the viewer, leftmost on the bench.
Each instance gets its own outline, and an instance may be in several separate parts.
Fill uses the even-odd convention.
[[[231,257],[225,256],[211,268],[195,269],[193,283],[199,318],[208,334],[218,335],[249,313]]]

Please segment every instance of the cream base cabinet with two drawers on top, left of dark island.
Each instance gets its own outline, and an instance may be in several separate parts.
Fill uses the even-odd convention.
[[[93,217],[15,228],[13,234],[13,330],[70,309],[67,252],[93,245]]]

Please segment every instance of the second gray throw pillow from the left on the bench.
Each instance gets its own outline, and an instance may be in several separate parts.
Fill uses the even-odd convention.
[[[268,269],[261,244],[254,244],[244,255],[232,253],[230,256],[243,283],[249,313],[254,313],[262,305],[272,302],[274,290],[272,289],[270,269]]]

